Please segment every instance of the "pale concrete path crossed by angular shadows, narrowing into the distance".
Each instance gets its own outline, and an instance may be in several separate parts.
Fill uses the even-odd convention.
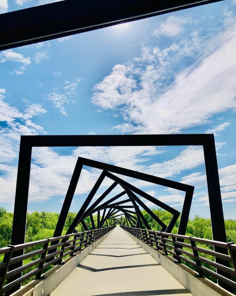
[[[171,274],[116,227],[50,296],[191,296]]]

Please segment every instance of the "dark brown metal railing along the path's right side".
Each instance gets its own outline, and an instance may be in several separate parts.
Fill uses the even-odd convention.
[[[154,246],[157,250],[163,251],[163,255],[171,256],[176,260],[175,263],[182,263],[182,261],[184,261],[190,264],[195,268],[197,272],[196,276],[202,277],[204,274],[208,274],[214,279],[222,281],[230,287],[236,289],[235,280],[230,279],[231,276],[236,277],[236,244],[234,244],[234,242],[217,242],[214,240],[201,239],[194,236],[171,234],[127,226],[121,227],[146,244]],[[199,247],[197,246],[198,243],[227,249],[228,255],[215,252],[214,250],[205,249],[202,246]],[[211,255],[214,259],[209,260],[201,256],[199,253]],[[229,262],[232,268],[216,263],[214,261],[215,258],[220,258],[223,261]],[[229,275],[230,278],[227,278],[222,274],[219,274],[203,266],[204,263],[205,265],[207,264],[213,268],[216,268],[217,270],[223,271]]]

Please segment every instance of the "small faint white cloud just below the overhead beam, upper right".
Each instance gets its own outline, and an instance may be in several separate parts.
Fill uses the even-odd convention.
[[[160,35],[175,37],[184,33],[186,31],[184,25],[191,22],[190,18],[170,16],[164,22],[158,24],[153,34],[156,37],[160,37]]]

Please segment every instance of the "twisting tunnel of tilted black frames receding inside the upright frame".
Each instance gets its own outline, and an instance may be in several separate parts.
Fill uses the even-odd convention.
[[[143,180],[143,181],[147,181],[153,184],[158,184],[158,185],[163,185],[163,186],[168,186],[170,188],[173,189],[178,189],[181,191],[185,192],[185,199],[184,199],[184,203],[183,203],[183,211],[182,211],[182,215],[181,215],[181,220],[180,220],[180,224],[179,224],[179,229],[178,229],[178,234],[185,234],[186,232],[186,227],[187,227],[187,222],[188,222],[188,218],[189,218],[189,211],[190,211],[190,207],[191,207],[191,201],[192,201],[192,197],[193,197],[193,192],[194,192],[194,187],[190,186],[190,185],[186,185],[183,183],[179,183],[176,181],[171,181],[168,179],[164,179],[164,178],[160,178],[160,177],[156,177],[156,176],[152,176],[152,175],[148,175],[145,173],[140,173],[134,170],[129,170],[126,168],[120,168],[118,166],[115,165],[110,165],[107,163],[101,163],[95,160],[90,160],[87,158],[83,158],[83,157],[78,157],[74,172],[73,172],[73,176],[71,178],[71,182],[69,185],[69,189],[70,192],[73,191],[73,193],[75,192],[77,183],[78,183],[78,179],[79,176],[81,174],[81,170],[83,165],[92,167],[92,168],[97,168],[97,169],[101,169],[102,173],[99,176],[98,180],[96,181],[94,187],[91,189],[91,192],[88,194],[88,197],[86,198],[85,202],[83,203],[83,205],[81,206],[81,209],[79,210],[79,212],[77,213],[74,221],[71,223],[71,226],[69,227],[67,234],[72,233],[73,231],[75,231],[76,226],[79,223],[82,223],[82,225],[84,226],[85,229],[88,229],[84,219],[87,217],[90,217],[91,219],[91,223],[93,228],[95,228],[95,224],[93,221],[93,216],[92,214],[95,212],[98,212],[98,226],[97,227],[102,227],[103,224],[106,222],[107,219],[109,219],[110,217],[114,216],[114,214],[118,213],[119,211],[122,211],[125,215],[126,221],[128,223],[130,223],[131,226],[137,226],[142,228],[142,222],[144,223],[145,227],[147,229],[151,229],[148,222],[146,221],[145,217],[142,215],[142,212],[139,209],[139,206],[137,204],[139,204],[144,210],[147,211],[147,213],[149,215],[151,215],[153,217],[153,219],[161,226],[161,231],[166,231],[166,232],[171,232],[179,215],[180,212],[178,212],[177,210],[173,209],[172,207],[166,205],[165,203],[159,201],[158,199],[152,197],[150,194],[142,191],[141,189],[135,187],[134,185],[124,181],[123,179],[115,176],[113,173],[117,173],[119,175],[123,175],[123,176],[128,176],[128,177],[132,177],[132,178],[136,178],[139,180]],[[75,177],[76,177],[76,182],[75,182]],[[101,196],[89,207],[89,209],[87,209],[89,203],[91,202],[92,198],[94,197],[94,195],[96,194],[97,190],[99,189],[99,186],[101,185],[102,181],[104,180],[105,177],[108,177],[110,179],[112,179],[114,181],[114,183],[108,188],[106,189],[106,191],[101,194]],[[99,203],[110,193],[112,192],[112,190],[117,186],[120,185],[124,191],[117,194],[115,197],[111,198],[110,200],[106,201],[105,203],[103,203],[102,205],[98,206]],[[68,189],[68,191],[69,191]],[[158,218],[155,213],[153,213],[146,205],[144,202],[142,202],[136,194],[139,194],[141,197],[153,202],[155,205],[157,205],[158,207],[163,208],[164,210],[168,211],[169,213],[173,214],[171,221],[168,225],[165,225],[165,223],[163,221],[160,220],[160,218]],[[114,200],[117,200],[118,198],[122,197],[124,194],[127,194],[128,199],[127,200],[122,200],[119,202],[115,202],[113,204],[111,204],[111,202],[113,202]],[[55,232],[54,232],[54,237],[60,236],[65,224],[65,220],[67,217],[67,213],[65,213],[64,208],[69,208],[71,205],[73,199],[73,194],[70,195],[66,195],[64,203],[63,203],[63,207],[58,219],[58,223],[57,226],[55,228]],[[132,202],[132,206],[125,206],[123,205],[126,202]],[[132,207],[135,209],[135,212],[132,212],[130,210],[127,210],[127,208]],[[106,214],[106,209],[109,208],[108,213]],[[103,216],[101,218],[100,221],[100,210],[104,210],[103,212]],[[117,210],[117,211],[116,211]],[[131,214],[136,214],[137,215],[137,219],[135,218],[135,216],[131,215]],[[135,222],[135,220],[137,222]],[[134,224],[133,224],[134,223]]]

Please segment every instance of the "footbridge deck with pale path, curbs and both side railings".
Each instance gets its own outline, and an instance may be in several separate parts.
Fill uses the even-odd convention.
[[[176,245],[182,244],[185,247],[191,247],[186,243],[186,240],[201,240],[202,242],[203,239],[165,232],[160,234],[158,231],[113,226],[8,246],[0,249],[1,254],[5,253],[4,260],[0,263],[0,294],[14,296],[234,295],[220,285],[204,278],[202,271],[208,269],[203,265],[198,266],[199,273],[196,274],[194,270],[181,263],[181,260],[183,262],[183,258],[185,258],[184,260],[191,262],[192,265],[196,264],[180,255],[182,252],[194,257],[193,253],[177,248]],[[167,238],[168,235],[173,237],[172,245],[171,239]],[[74,239],[70,239],[72,236]],[[178,241],[174,236],[178,237]],[[182,242],[180,237],[184,238]],[[162,239],[162,242],[159,239]],[[215,241],[204,241],[216,244]],[[221,247],[227,247],[226,243],[217,243]],[[42,244],[44,244],[43,248],[39,249]],[[230,254],[234,254],[236,246],[233,244],[230,246]],[[27,252],[29,247],[36,247],[36,250]],[[171,247],[175,249],[175,252],[171,251]],[[22,249],[25,250],[24,255],[11,258],[13,250],[17,252]],[[192,251],[198,249],[199,247],[193,247]],[[201,248],[201,251],[204,249]],[[214,251],[207,250],[207,252],[219,255]],[[169,256],[168,253],[172,255]],[[37,254],[41,254],[41,257],[35,260],[35,257],[32,256]],[[235,263],[234,257],[231,258],[230,255],[221,254],[220,256]],[[9,270],[9,266],[30,257],[34,258],[34,261],[24,263],[23,266],[21,264],[12,271]],[[195,261],[205,260],[202,258],[197,255]],[[214,261],[209,262],[212,262],[213,266],[218,264]],[[36,263],[39,263],[36,269],[24,273]],[[55,266],[52,265],[53,263]],[[53,267],[45,272],[45,268],[49,266]],[[219,267],[221,266],[219,265]],[[225,268],[224,266],[224,270],[227,270]],[[23,274],[19,274],[22,271]],[[228,271],[231,274],[235,272],[232,268]],[[214,274],[213,271],[208,270],[208,272]],[[33,279],[32,275],[36,275],[36,279]],[[231,279],[217,273],[215,276],[230,284],[232,288],[236,286],[235,281]],[[11,281],[7,281],[7,279],[11,279]],[[25,286],[20,286],[19,283],[24,283],[25,279],[32,281]]]

